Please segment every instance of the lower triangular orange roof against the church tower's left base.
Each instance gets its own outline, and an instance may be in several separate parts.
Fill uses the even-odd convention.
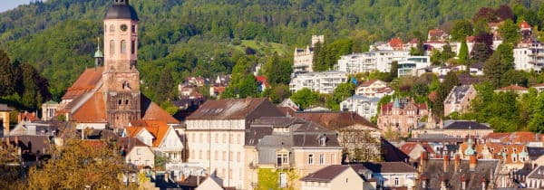
[[[101,92],[95,92],[82,107],[72,114],[73,120],[80,123],[106,123],[105,101]]]

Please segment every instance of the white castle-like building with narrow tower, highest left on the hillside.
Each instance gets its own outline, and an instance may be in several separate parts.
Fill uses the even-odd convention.
[[[293,55],[293,72],[311,72],[314,71],[314,45],[316,43],[325,43],[325,36],[312,35],[312,45],[306,48],[295,48]]]

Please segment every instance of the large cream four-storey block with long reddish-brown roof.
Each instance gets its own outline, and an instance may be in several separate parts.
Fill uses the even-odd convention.
[[[201,163],[223,186],[244,184],[246,130],[251,120],[283,114],[267,99],[209,100],[186,120],[188,162]]]

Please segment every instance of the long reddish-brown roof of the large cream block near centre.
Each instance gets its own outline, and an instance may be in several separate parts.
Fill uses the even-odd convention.
[[[276,109],[274,105],[266,98],[247,98],[247,99],[228,99],[228,100],[208,100],[199,109],[193,112],[190,119],[247,119],[249,115],[257,111],[261,105],[269,104],[271,109],[261,109],[258,111],[267,111],[269,116],[282,116],[283,114]]]

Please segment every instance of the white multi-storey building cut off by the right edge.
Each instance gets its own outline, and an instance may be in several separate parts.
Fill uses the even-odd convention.
[[[514,48],[516,70],[538,71],[544,67],[544,45],[538,41],[520,43]]]

